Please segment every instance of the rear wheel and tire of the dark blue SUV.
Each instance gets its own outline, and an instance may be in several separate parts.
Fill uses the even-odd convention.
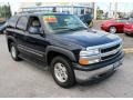
[[[17,44],[14,42],[10,43],[10,53],[11,57],[14,61],[20,61],[21,59],[18,57],[19,56],[19,51],[17,49]]]

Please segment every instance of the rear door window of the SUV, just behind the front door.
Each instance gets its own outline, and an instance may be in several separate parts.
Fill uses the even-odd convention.
[[[25,30],[27,24],[28,24],[28,18],[27,17],[20,17],[20,19],[17,23],[17,28],[20,29],[20,30]]]

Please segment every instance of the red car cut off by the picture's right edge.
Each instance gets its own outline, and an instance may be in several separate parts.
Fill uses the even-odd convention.
[[[124,33],[133,36],[133,18],[130,18],[127,23],[124,26]]]

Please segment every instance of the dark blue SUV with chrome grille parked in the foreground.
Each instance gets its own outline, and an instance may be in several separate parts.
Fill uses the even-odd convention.
[[[89,29],[73,14],[16,14],[8,22],[6,36],[13,60],[43,62],[63,88],[103,77],[122,64],[122,39]]]

